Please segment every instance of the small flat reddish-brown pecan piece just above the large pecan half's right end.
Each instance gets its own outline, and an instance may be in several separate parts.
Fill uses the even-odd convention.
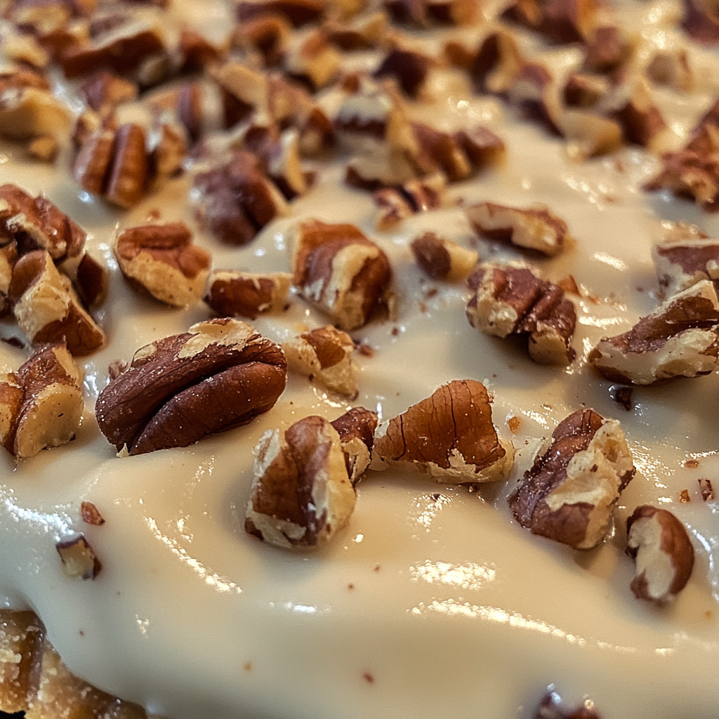
[[[207,280],[206,303],[221,316],[256,319],[262,312],[285,306],[290,291],[290,273],[247,273],[214,270]]]

